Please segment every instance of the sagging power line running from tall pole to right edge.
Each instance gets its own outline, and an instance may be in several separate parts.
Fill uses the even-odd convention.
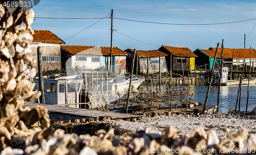
[[[115,18],[115,19],[136,21],[136,22],[140,22],[140,23],[164,24],[164,25],[220,25],[220,24],[240,23],[240,22],[244,22],[244,21],[255,20],[256,18],[247,19],[247,20],[240,20],[240,21],[231,21],[231,22],[225,22],[225,23],[211,23],[211,24],[174,24],[174,23],[157,23],[157,22],[151,22],[151,21],[141,21],[141,20],[132,20],[132,19],[123,19],[123,18]]]

